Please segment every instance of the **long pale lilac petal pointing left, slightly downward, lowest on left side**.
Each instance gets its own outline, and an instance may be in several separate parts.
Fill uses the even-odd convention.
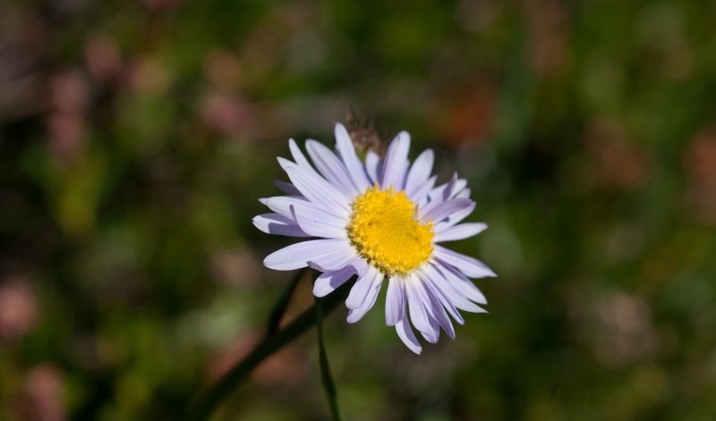
[[[271,253],[263,264],[269,269],[291,271],[306,267],[309,260],[331,259],[344,249],[345,240],[342,239],[302,241]]]

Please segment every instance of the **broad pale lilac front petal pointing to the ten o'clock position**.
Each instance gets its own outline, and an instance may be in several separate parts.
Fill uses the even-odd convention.
[[[350,200],[328,181],[306,173],[294,165],[285,165],[284,170],[294,186],[315,205],[325,206],[326,210],[333,215],[341,215],[345,218],[350,215]],[[341,210],[343,210],[343,214],[341,214]]]

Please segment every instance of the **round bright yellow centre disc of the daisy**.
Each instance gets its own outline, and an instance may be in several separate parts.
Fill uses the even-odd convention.
[[[369,188],[353,203],[349,238],[384,274],[407,274],[432,254],[432,222],[420,223],[404,191]]]

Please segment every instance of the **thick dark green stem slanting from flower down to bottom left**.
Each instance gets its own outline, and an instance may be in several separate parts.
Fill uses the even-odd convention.
[[[328,315],[332,313],[338,304],[345,301],[348,295],[350,285],[353,282],[345,282],[340,288],[328,294],[323,299],[322,309]],[[300,316],[296,317],[291,324],[288,324],[283,330],[269,335],[260,341],[249,355],[239,361],[234,368],[231,369],[217,383],[209,387],[208,390],[202,392],[194,401],[187,417],[188,421],[200,421],[211,416],[217,406],[226,399],[235,389],[243,383],[251,374],[254,368],[260,365],[266,358],[270,357],[278,349],[283,348],[287,343],[301,336],[302,333],[310,329],[316,324],[316,309],[311,307],[305,310]]]

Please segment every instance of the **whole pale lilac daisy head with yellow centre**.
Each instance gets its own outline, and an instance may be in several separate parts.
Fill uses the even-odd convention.
[[[390,143],[384,159],[369,151],[364,164],[345,127],[337,124],[335,134],[336,152],[306,141],[312,165],[294,139],[289,140],[294,161],[278,158],[291,181],[277,181],[286,196],[260,199],[274,213],[258,215],[253,223],[269,234],[316,240],[281,248],[264,265],[320,271],[313,285],[317,297],[356,275],[345,300],[348,323],[373,307],[387,282],[386,324],[395,326],[409,349],[422,351],[411,324],[425,341],[437,342],[440,330],[454,339],[450,317],[463,324],[458,310],[482,313],[478,305],[487,304],[469,278],[495,276],[479,260],[440,245],[487,228],[460,223],[475,207],[465,180],[454,175],[436,186],[432,150],[411,164],[405,131]]]

